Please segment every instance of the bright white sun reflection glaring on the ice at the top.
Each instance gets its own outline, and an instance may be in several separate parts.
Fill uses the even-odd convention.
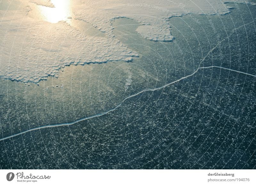
[[[51,0],[54,8],[38,6],[40,14],[45,21],[57,23],[66,21],[71,17],[70,0]]]

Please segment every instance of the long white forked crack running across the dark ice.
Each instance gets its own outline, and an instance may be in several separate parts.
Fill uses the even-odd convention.
[[[250,23],[252,23],[252,22],[250,22]],[[250,23],[247,23],[247,24],[245,24],[245,25],[248,25],[248,24],[250,24]],[[241,28],[241,27],[243,27],[243,26],[245,26],[245,25],[242,25],[242,26],[239,26],[239,27],[233,29],[232,33],[231,33],[228,37],[226,37],[225,39],[221,40],[215,47],[213,47],[213,48],[207,53],[207,55],[206,55],[205,57],[203,57],[203,59],[201,60],[200,64],[198,65],[199,67],[198,67],[192,74],[190,74],[190,75],[184,76],[184,77],[182,77],[182,78],[180,78],[180,79],[178,79],[178,80],[175,80],[175,81],[173,81],[173,82],[167,83],[167,84],[165,84],[164,86],[157,87],[157,88],[154,88],[154,89],[144,89],[144,90],[142,90],[142,91],[140,91],[140,92],[138,92],[138,93],[136,93],[136,94],[127,96],[126,98],[124,98],[124,100],[123,100],[121,103],[119,103],[118,105],[116,105],[116,107],[114,107],[114,108],[112,108],[112,109],[110,109],[110,110],[108,110],[108,111],[106,111],[106,112],[102,112],[102,113],[99,113],[99,114],[95,114],[95,115],[92,115],[92,116],[89,116],[89,117],[83,117],[83,118],[81,118],[81,119],[78,119],[78,120],[76,120],[76,121],[69,122],[69,123],[59,123],[59,124],[43,125],[43,126],[34,127],[34,128],[31,128],[31,129],[28,129],[28,130],[26,130],[26,131],[22,131],[22,132],[19,132],[19,133],[12,134],[12,135],[10,135],[10,136],[6,136],[6,137],[4,137],[4,138],[1,138],[0,141],[2,141],[2,140],[4,140],[4,139],[9,139],[9,138],[12,138],[12,137],[15,137],[15,136],[19,136],[19,135],[24,134],[24,133],[27,133],[27,132],[35,131],[35,130],[38,130],[38,129],[50,128],[50,127],[58,127],[58,126],[68,126],[68,125],[73,125],[73,124],[75,124],[75,123],[78,123],[78,122],[81,122],[81,121],[84,121],[84,120],[88,120],[88,119],[91,119],[91,118],[94,118],[94,117],[103,116],[103,115],[105,115],[105,114],[108,114],[109,112],[112,112],[112,111],[116,110],[118,107],[120,107],[120,106],[122,105],[122,103],[124,103],[125,100],[127,100],[127,99],[129,99],[129,98],[131,98],[131,97],[137,96],[137,95],[139,95],[139,94],[141,94],[141,93],[143,93],[143,92],[147,92],[147,91],[156,91],[156,90],[159,90],[159,89],[163,89],[163,88],[165,88],[165,87],[167,87],[167,86],[169,86],[169,85],[172,85],[172,84],[174,84],[174,83],[176,83],[176,82],[180,82],[180,81],[183,80],[183,79],[186,79],[186,78],[188,78],[188,77],[190,77],[190,76],[193,76],[194,74],[196,74],[196,72],[197,72],[199,69],[221,68],[221,69],[230,70],[230,71],[234,71],[234,72],[237,72],[237,73],[242,73],[242,74],[245,74],[245,75],[250,75],[250,76],[256,77],[256,75],[252,75],[252,74],[245,73],[245,72],[242,72],[242,71],[237,71],[237,70],[234,70],[234,69],[225,68],[225,67],[220,67],[220,66],[200,67],[200,65],[202,64],[202,62],[206,59],[206,57],[207,57],[210,53],[212,53],[212,51],[213,51],[215,48],[217,48],[224,40],[226,40],[227,38],[229,38],[229,37],[235,32],[235,30],[237,30],[237,29],[239,29],[239,28]]]

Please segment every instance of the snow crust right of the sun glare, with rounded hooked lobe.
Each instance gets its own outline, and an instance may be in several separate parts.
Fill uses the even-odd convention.
[[[113,28],[110,25],[114,17],[132,18],[142,24],[137,29],[138,33],[144,38],[158,41],[173,39],[171,27],[166,22],[173,16],[189,13],[224,15],[229,13],[231,8],[220,0],[110,0],[107,3],[89,0],[83,2],[75,8],[74,14],[77,18],[97,26],[100,31],[111,36]],[[254,4],[244,0],[228,2]]]

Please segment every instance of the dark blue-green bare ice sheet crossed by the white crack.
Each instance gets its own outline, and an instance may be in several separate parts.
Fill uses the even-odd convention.
[[[255,168],[256,7],[229,5],[170,18],[171,42],[116,18],[131,62],[71,65],[38,85],[2,78],[0,167]]]

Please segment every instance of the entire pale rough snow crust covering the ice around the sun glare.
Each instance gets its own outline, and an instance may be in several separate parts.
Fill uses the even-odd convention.
[[[50,23],[38,10],[44,7],[46,13],[60,10],[62,7],[58,9],[54,4],[56,1],[1,1],[0,76],[37,83],[50,75],[57,76],[60,68],[71,64],[131,61],[138,54],[114,37],[112,21],[115,18],[137,20],[140,26],[136,31],[146,39],[171,41],[171,26],[166,20],[172,16],[223,15],[231,8],[219,0],[60,0],[63,4],[68,2],[72,13],[59,22]],[[234,2],[253,4],[244,0]],[[105,37],[100,37],[98,32],[86,34],[79,24],[71,24],[72,20],[73,23],[86,22]]]

